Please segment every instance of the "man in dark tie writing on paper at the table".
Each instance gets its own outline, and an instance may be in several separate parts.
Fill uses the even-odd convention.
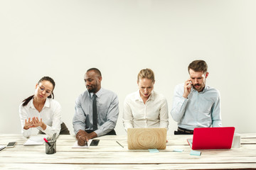
[[[75,101],[73,128],[78,145],[102,135],[116,135],[114,127],[119,114],[118,98],[112,91],[102,89],[102,74],[91,68],[85,73],[86,91]]]

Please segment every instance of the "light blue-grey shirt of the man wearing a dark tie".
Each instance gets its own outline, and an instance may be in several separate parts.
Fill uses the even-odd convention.
[[[118,98],[112,91],[100,89],[96,93],[97,100],[97,130],[98,137],[106,135],[114,129],[119,114]],[[82,93],[75,101],[73,128],[75,134],[79,130],[93,130],[92,94]]]

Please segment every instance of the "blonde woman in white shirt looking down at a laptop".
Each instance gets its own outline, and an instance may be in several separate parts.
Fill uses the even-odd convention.
[[[154,72],[142,69],[137,77],[139,90],[124,100],[123,123],[127,128],[168,128],[166,98],[154,91]]]

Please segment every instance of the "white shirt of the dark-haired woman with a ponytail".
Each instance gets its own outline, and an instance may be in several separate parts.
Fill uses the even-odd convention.
[[[24,137],[29,137],[32,133],[32,129],[34,129],[23,129],[25,120],[28,121],[28,118],[32,119],[33,117],[38,117],[39,120],[42,118],[43,123],[46,124],[46,130],[43,130],[41,127],[36,127],[36,129],[45,132],[49,137],[52,137],[55,132],[57,133],[57,136],[60,133],[60,124],[62,123],[61,106],[58,101],[55,101],[52,98],[46,98],[46,103],[40,113],[36,110],[35,106],[33,106],[33,98],[26,106],[22,106],[21,103],[19,106],[19,115],[21,118],[21,133]]]

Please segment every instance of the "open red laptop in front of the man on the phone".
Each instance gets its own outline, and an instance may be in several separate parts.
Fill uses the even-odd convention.
[[[193,141],[188,144],[195,149],[230,149],[233,142],[234,127],[195,128]]]

